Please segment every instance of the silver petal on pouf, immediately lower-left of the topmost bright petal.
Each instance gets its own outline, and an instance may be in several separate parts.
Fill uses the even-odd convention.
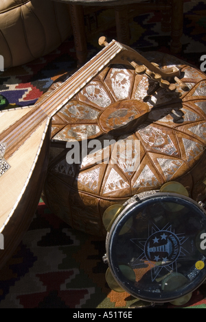
[[[97,104],[101,108],[106,108],[111,104],[111,99],[106,94],[105,90],[96,82],[91,82],[91,85],[86,87],[86,92],[82,90],[82,95],[87,97],[89,101]]]

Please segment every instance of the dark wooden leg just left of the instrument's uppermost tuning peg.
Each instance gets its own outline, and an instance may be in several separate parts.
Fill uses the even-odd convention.
[[[87,60],[87,37],[84,27],[84,12],[82,5],[69,4],[71,17],[71,27],[78,59],[78,67],[82,66]]]

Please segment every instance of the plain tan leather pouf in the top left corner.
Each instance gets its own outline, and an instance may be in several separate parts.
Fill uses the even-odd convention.
[[[65,3],[52,0],[0,1],[0,55],[4,68],[18,66],[56,49],[71,25]]]

